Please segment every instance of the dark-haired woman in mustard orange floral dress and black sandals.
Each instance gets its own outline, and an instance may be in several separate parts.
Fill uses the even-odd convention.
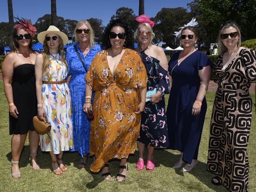
[[[121,159],[117,181],[126,177],[126,159],[134,153],[140,129],[140,113],[146,100],[147,73],[133,47],[132,31],[120,20],[113,20],[104,31],[106,50],[93,59],[86,81],[83,111],[94,112],[91,122],[90,155],[96,160],[90,169],[101,170],[110,179],[108,161]],[[125,46],[125,47],[124,47]],[[91,93],[95,91],[93,106]]]

